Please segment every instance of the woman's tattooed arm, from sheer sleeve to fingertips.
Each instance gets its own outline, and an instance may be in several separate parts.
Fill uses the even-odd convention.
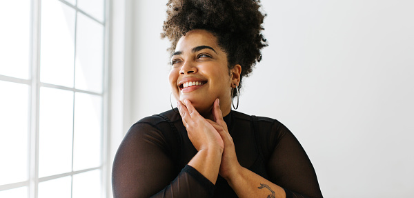
[[[210,123],[224,141],[219,174],[226,179],[238,197],[322,197],[311,161],[299,141],[281,123],[273,128],[280,130],[273,131],[279,137],[267,139],[277,142],[267,167],[272,182],[240,166],[233,139],[228,133],[219,106],[213,107],[213,115],[214,121]]]

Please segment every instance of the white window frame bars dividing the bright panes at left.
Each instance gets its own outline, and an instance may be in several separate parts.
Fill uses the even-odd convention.
[[[120,140],[124,136],[123,132],[117,132],[118,141],[110,141],[110,138],[113,136],[110,135],[110,130],[119,131],[119,129],[115,128],[109,128],[110,125],[110,117],[108,117],[108,111],[110,110],[110,99],[112,97],[110,96],[110,89],[116,90],[114,86],[110,86],[109,84],[109,72],[110,72],[110,55],[115,50],[109,50],[110,48],[110,34],[113,33],[113,31],[110,30],[110,23],[116,23],[119,21],[124,21],[121,19],[111,19],[111,12],[112,9],[110,7],[116,6],[118,8],[123,8],[125,11],[125,3],[122,3],[121,1],[117,1],[115,3],[115,0],[103,0],[104,1],[104,20],[103,22],[95,19],[94,17],[91,17],[90,14],[83,12],[76,6],[73,6],[72,4],[64,1],[64,0],[55,0],[60,1],[70,8],[76,10],[77,12],[81,12],[82,14],[86,15],[87,17],[90,17],[90,19],[100,23],[104,26],[104,41],[103,41],[103,91],[101,94],[95,93],[95,92],[89,92],[85,90],[77,90],[75,88],[67,88],[64,86],[57,86],[52,85],[49,83],[42,83],[40,81],[40,21],[41,21],[41,0],[32,0],[31,2],[31,37],[30,37],[30,79],[19,79],[15,77],[8,77],[4,75],[0,75],[0,81],[8,81],[12,83],[20,83],[20,84],[26,84],[30,87],[29,92],[29,117],[28,119],[28,174],[29,178],[28,181],[21,181],[13,184],[5,184],[0,186],[0,191],[3,190],[11,190],[14,188],[20,188],[20,187],[28,187],[28,197],[30,198],[37,198],[38,197],[38,187],[39,183],[42,181],[48,181],[51,179],[57,179],[61,177],[66,176],[72,176],[77,175],[82,172],[88,172],[91,170],[101,170],[101,197],[112,197],[112,189],[110,187],[110,172],[112,167],[112,161],[113,156],[115,155],[115,150],[117,146],[119,145]],[[119,10],[119,9],[118,9]],[[118,11],[119,12],[119,11]],[[117,13],[118,13],[117,12]],[[124,32],[124,30],[121,30]],[[122,37],[124,38],[124,37]],[[76,45],[76,43],[75,43]],[[75,46],[76,48],[76,46]],[[119,48],[119,47],[118,47]],[[124,61],[124,58],[119,61]],[[122,65],[120,68],[124,68]],[[124,86],[124,85],[123,85]],[[87,93],[90,95],[98,95],[102,97],[103,106],[102,106],[102,126],[101,126],[101,166],[95,167],[95,168],[89,168],[86,170],[79,170],[79,171],[71,171],[62,173],[59,175],[52,175],[49,177],[42,177],[39,178],[39,92],[41,87],[46,88],[57,88],[60,90],[70,90],[73,92],[82,92]],[[75,96],[75,95],[74,95]],[[113,109],[113,108],[112,108]],[[75,110],[75,106],[74,106]],[[75,115],[74,115],[75,116]],[[123,128],[121,128],[123,130]],[[116,134],[116,132],[115,132]],[[74,140],[72,140],[73,142]],[[73,149],[73,148],[72,148]],[[72,156],[73,158],[73,156]],[[72,159],[73,161],[73,159]]]

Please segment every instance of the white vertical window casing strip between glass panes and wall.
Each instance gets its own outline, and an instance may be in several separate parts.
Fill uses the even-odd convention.
[[[132,123],[132,43],[134,0],[108,0],[107,197],[112,197],[112,163]]]

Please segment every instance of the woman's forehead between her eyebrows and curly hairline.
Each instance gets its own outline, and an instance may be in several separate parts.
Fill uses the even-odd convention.
[[[206,30],[191,30],[179,39],[175,51],[185,52],[197,46],[210,46],[215,50],[220,50],[217,39],[211,32]]]

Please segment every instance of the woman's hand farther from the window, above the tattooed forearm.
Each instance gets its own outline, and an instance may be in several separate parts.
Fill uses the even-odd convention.
[[[215,130],[217,130],[217,132],[219,132],[221,139],[224,141],[224,151],[223,155],[221,155],[219,174],[221,177],[228,180],[233,176],[238,175],[242,166],[240,166],[239,161],[237,161],[235,143],[228,132],[227,124],[221,114],[219,99],[215,100],[212,112],[214,121],[207,121],[215,128]]]

